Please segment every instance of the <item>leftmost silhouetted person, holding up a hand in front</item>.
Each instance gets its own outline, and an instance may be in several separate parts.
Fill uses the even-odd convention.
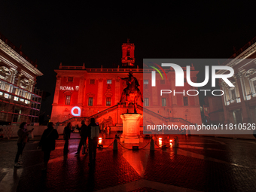
[[[20,129],[18,130],[18,141],[17,141],[17,145],[18,145],[18,151],[14,160],[14,166],[16,167],[20,167],[21,164],[23,164],[22,161],[19,161],[19,157],[21,154],[23,154],[23,149],[25,148],[26,142],[28,142],[28,136],[29,133],[32,133],[32,130],[27,130],[26,129],[27,123],[23,122],[20,123]]]

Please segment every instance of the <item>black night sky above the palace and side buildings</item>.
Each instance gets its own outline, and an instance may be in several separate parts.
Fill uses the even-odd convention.
[[[111,68],[127,38],[140,67],[143,58],[228,58],[256,36],[254,1],[154,2],[2,1],[0,32],[37,59],[36,87],[51,94],[46,114],[59,62]]]

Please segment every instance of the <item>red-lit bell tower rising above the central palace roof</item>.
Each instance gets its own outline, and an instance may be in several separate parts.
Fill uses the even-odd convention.
[[[134,57],[135,45],[130,44],[130,39],[127,39],[127,43],[122,45],[122,67],[123,68],[135,68]]]

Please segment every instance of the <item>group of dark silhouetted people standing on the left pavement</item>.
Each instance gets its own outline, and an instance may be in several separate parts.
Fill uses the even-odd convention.
[[[22,161],[19,160],[20,155],[23,153],[23,149],[26,145],[27,138],[32,130],[27,130],[27,123],[23,122],[20,124],[20,129],[18,130],[18,151],[15,157],[14,166],[20,167],[22,166]],[[64,154],[69,151],[69,139],[71,135],[71,128],[72,123],[68,123],[68,125],[64,128],[63,138],[65,140],[64,145]],[[34,130],[34,129],[33,129]],[[93,166],[96,161],[96,148],[98,145],[99,140],[99,125],[96,124],[95,119],[90,119],[90,124],[87,126],[85,121],[81,121],[81,128],[80,128],[80,142],[78,145],[78,151],[75,153],[76,156],[80,155],[82,145],[86,145],[87,138],[89,143],[89,166]],[[49,122],[47,124],[47,129],[44,130],[43,135],[41,136],[41,140],[39,142],[38,148],[44,152],[44,169],[47,169],[47,163],[50,160],[50,152],[55,150],[56,139],[59,138],[59,134],[57,130],[53,128],[53,123]]]

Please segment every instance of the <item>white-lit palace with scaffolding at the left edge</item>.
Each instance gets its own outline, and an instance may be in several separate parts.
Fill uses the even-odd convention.
[[[36,78],[43,75],[18,47],[0,34],[0,122],[38,122],[41,108]]]

